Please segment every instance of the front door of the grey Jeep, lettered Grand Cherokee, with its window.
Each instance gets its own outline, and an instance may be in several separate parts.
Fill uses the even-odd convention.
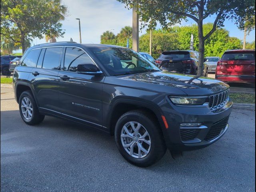
[[[66,47],[58,75],[62,115],[90,126],[102,127],[102,88],[104,76],[80,74],[81,63],[94,64],[80,48]]]

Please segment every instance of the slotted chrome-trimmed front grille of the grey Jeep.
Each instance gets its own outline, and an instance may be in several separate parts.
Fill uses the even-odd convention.
[[[213,112],[218,112],[223,107],[229,96],[229,89],[214,95],[209,96],[209,107]]]

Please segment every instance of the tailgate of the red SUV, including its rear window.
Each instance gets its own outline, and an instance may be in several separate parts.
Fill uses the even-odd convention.
[[[255,75],[255,51],[226,52],[220,64],[222,74]]]

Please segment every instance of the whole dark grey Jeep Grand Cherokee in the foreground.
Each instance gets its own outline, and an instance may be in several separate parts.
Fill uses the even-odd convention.
[[[232,107],[224,82],[162,71],[133,50],[102,44],[33,46],[13,82],[24,122],[50,115],[114,134],[137,166],[153,164],[166,148],[175,154],[214,143]]]

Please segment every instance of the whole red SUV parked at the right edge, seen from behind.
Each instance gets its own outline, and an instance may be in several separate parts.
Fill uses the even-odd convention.
[[[217,63],[215,78],[255,83],[255,50],[228,50]]]

